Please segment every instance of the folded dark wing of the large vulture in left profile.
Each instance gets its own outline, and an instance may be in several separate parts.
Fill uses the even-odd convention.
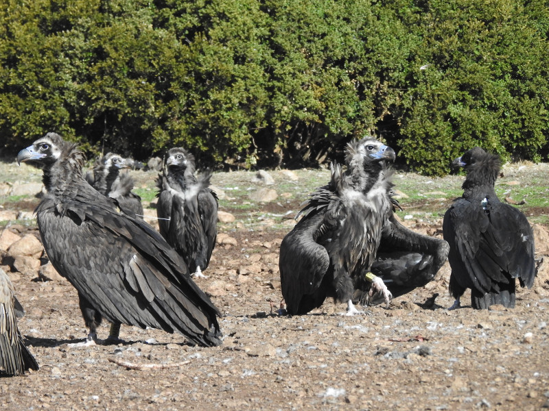
[[[118,214],[95,192],[45,199],[37,218],[56,270],[108,321],[180,332],[218,345],[220,315],[185,262],[140,219]]]

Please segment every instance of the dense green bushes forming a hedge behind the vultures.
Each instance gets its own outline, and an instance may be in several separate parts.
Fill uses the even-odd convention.
[[[6,0],[0,23],[5,149],[54,130],[274,166],[375,134],[430,174],[472,145],[549,151],[541,0]]]

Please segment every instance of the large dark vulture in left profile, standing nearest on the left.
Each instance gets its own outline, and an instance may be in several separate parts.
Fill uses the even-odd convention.
[[[198,345],[222,343],[220,311],[192,281],[187,264],[150,225],[120,212],[117,201],[86,182],[76,145],[48,133],[17,161],[43,169],[47,195],[35,210],[38,229],[49,260],[78,290],[86,345],[97,340],[102,318],[178,332]],[[110,339],[118,329],[111,328]]]

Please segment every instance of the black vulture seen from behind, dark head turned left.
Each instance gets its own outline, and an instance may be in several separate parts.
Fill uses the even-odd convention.
[[[465,169],[463,196],[444,215],[443,234],[450,246],[449,292],[460,297],[471,289],[471,306],[515,307],[515,279],[530,288],[536,275],[534,236],[526,216],[495,195],[500,158],[480,147],[454,160]]]

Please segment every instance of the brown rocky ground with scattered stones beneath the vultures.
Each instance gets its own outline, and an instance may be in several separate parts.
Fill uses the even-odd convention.
[[[46,264],[32,220],[38,200],[13,194],[39,182],[40,174],[12,166],[0,171],[0,190],[5,188],[0,191],[0,267],[26,309],[19,327],[40,371],[3,378],[0,409],[549,408],[545,264],[534,287],[519,291],[514,310],[476,311],[466,304],[447,311],[453,301],[447,295],[446,264],[433,282],[394,299],[388,310],[373,307],[369,315],[349,317],[341,315],[343,305],[327,301],[305,316],[277,315],[278,250],[293,224],[288,216],[299,210],[311,187],[327,182],[327,171],[272,172],[274,184],[255,179],[254,173],[214,175],[226,222],[219,225],[218,245],[205,271],[209,277],[197,283],[224,314],[222,346],[191,347],[179,335],[123,326],[125,344],[71,347],[86,336],[76,292]],[[547,175],[548,168],[530,167]],[[508,174],[527,185],[530,178],[523,171],[511,168]],[[136,177],[138,186],[152,189],[153,172],[136,172]],[[413,229],[441,236],[441,213],[463,177],[397,174],[397,188],[409,179],[438,194],[423,200],[403,197],[405,212],[399,215]],[[410,211],[425,208],[430,212]],[[154,200],[146,210],[154,216]],[[545,210],[528,209],[528,218],[538,221]],[[536,224],[538,256],[549,254],[546,229],[543,220]],[[423,308],[435,293],[434,306]],[[463,301],[469,301],[468,294]],[[104,324],[100,337],[107,334]]]

